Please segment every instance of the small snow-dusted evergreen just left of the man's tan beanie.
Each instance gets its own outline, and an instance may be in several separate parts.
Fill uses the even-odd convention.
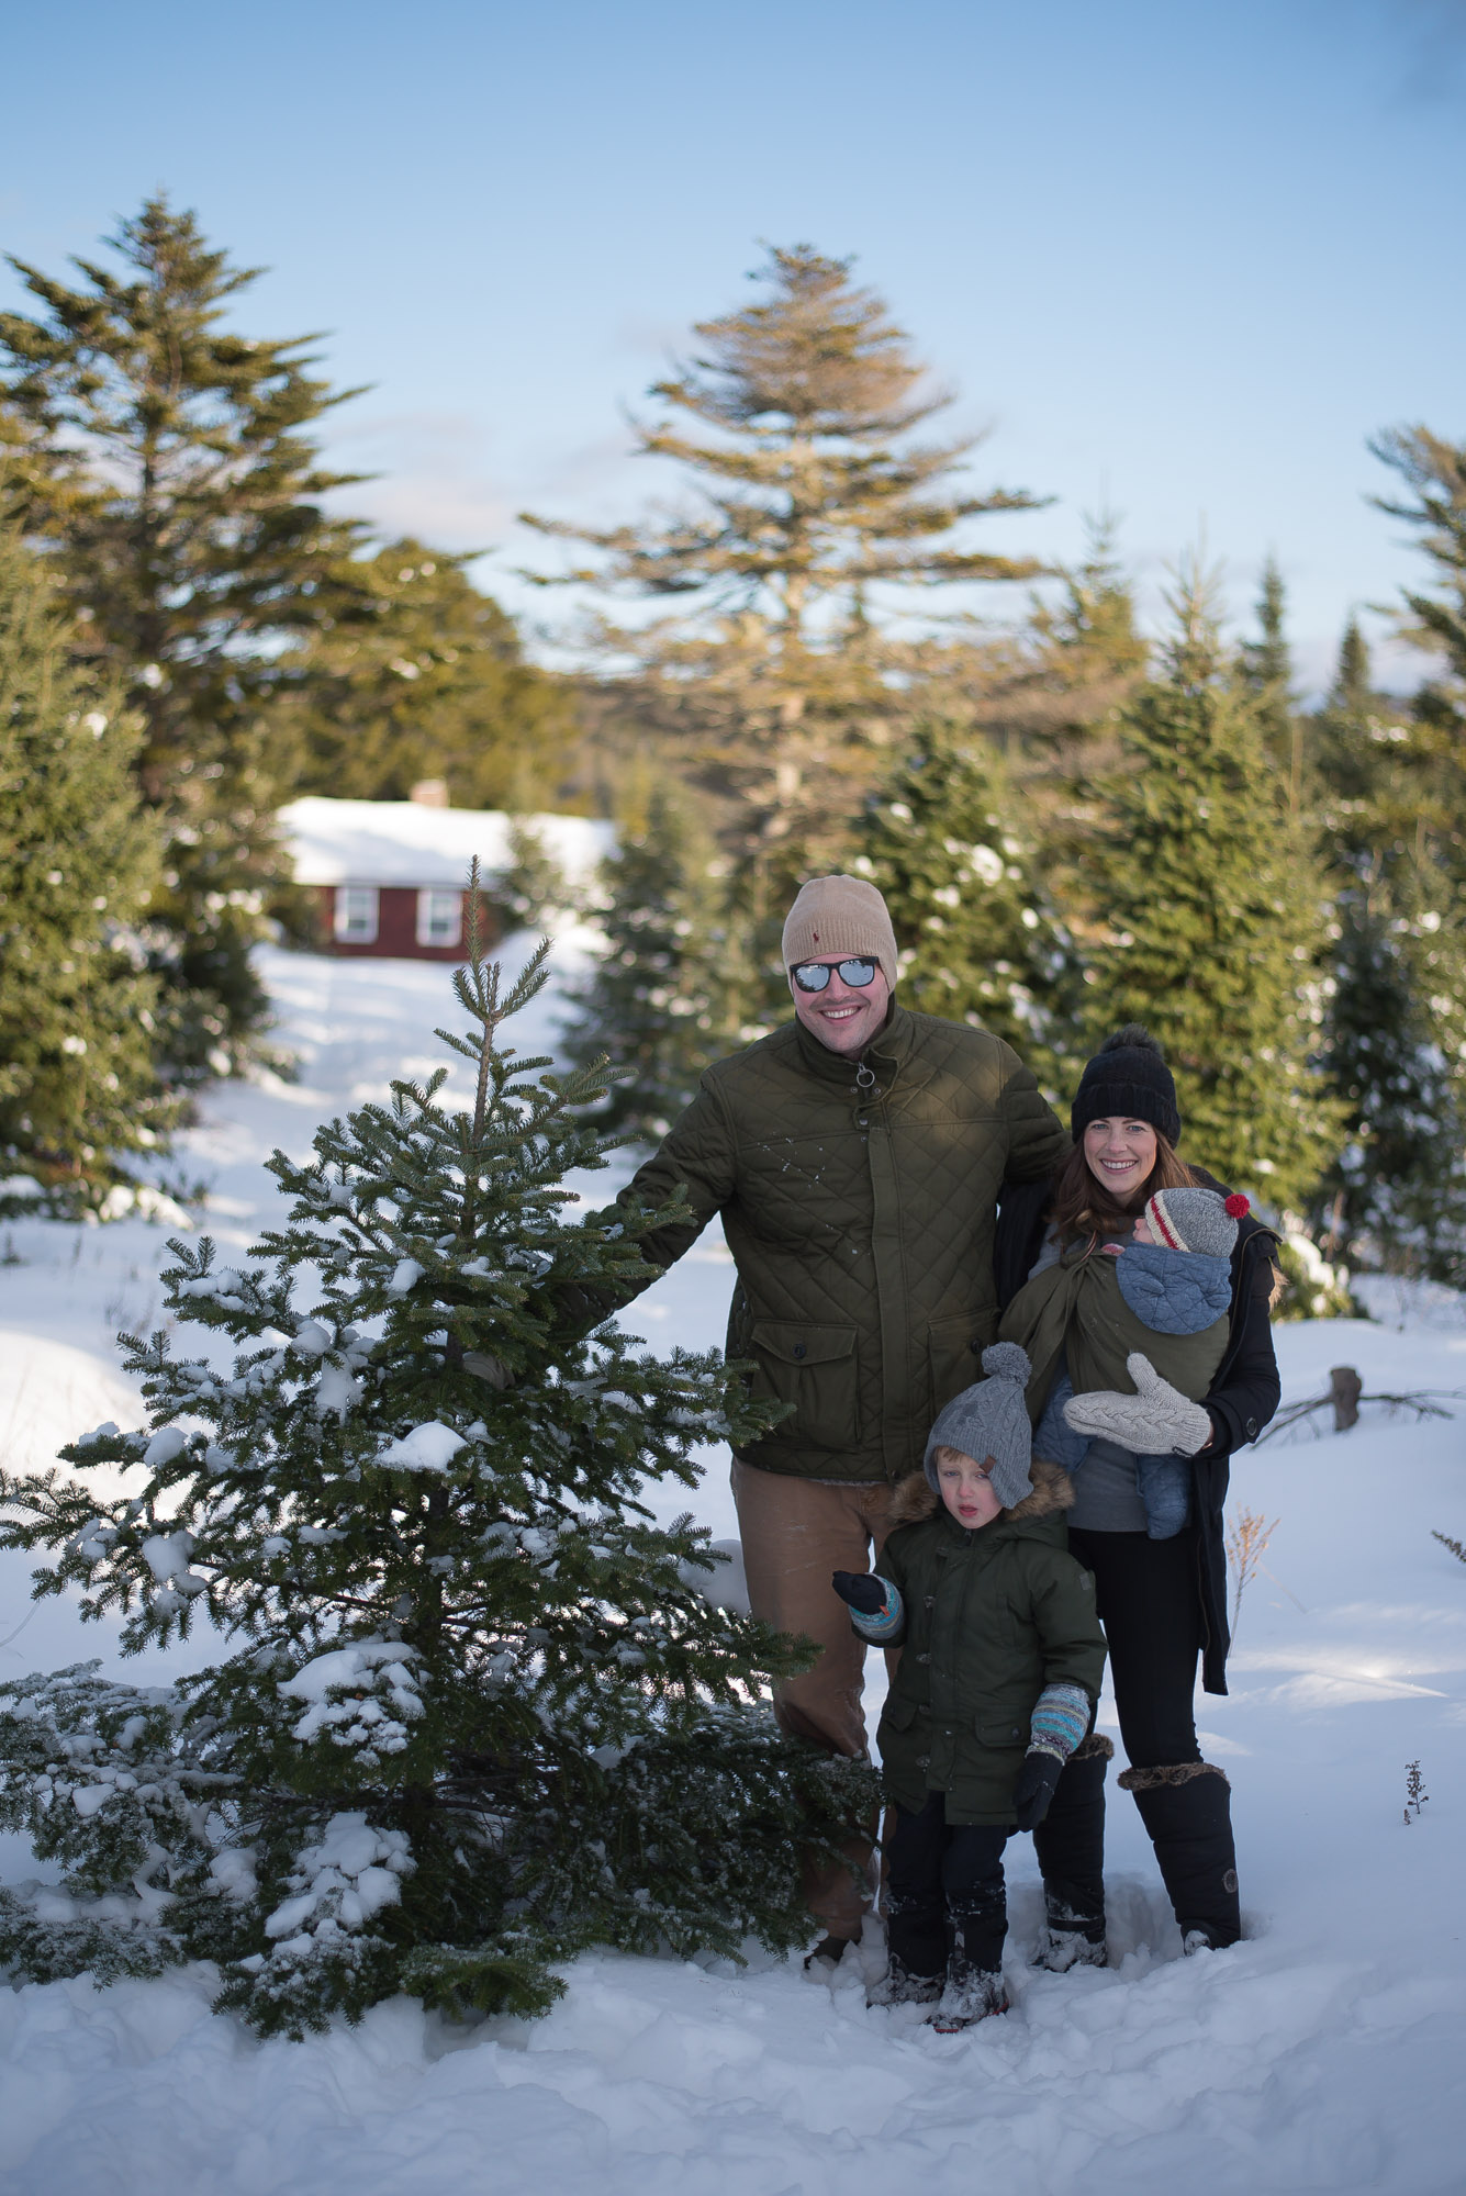
[[[571,993],[573,1061],[606,1061],[606,1122],[667,1133],[711,1061],[762,1034],[737,1021],[748,993],[748,940],[729,907],[726,870],[691,804],[654,786],[641,828],[623,826],[601,865],[595,920],[604,951]]]

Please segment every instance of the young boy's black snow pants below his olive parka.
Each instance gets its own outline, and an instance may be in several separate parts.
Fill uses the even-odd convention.
[[[988,1823],[948,1823],[946,1794],[920,1814],[891,1807],[887,1948],[909,1974],[999,1974],[1007,1937],[1003,1847]]]

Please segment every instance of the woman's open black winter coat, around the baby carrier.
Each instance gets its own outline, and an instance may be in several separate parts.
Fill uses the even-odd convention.
[[[1200,1166],[1196,1175],[1207,1188],[1227,1195],[1225,1186]],[[1051,1181],[1005,1181],[999,1206],[999,1232],[992,1250],[992,1274],[999,1309],[1005,1309],[1029,1278],[1049,1225]],[[1268,1324],[1273,1293],[1273,1247],[1277,1236],[1247,1217],[1238,1223],[1238,1245],[1231,1254],[1231,1335],[1227,1355],[1205,1394],[1214,1438],[1205,1456],[1192,1458],[1196,1487],[1196,1566],[1203,1614],[1200,1682],[1207,1693],[1227,1691],[1227,1539],[1222,1504],[1227,1502],[1233,1449],[1255,1441],[1277,1410],[1282,1386]]]

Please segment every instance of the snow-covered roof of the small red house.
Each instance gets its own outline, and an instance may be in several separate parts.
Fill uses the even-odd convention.
[[[529,815],[544,852],[568,878],[610,854],[614,826],[593,817]],[[298,885],[461,885],[472,856],[485,874],[509,867],[509,824],[498,808],[419,802],[331,802],[281,808]]]

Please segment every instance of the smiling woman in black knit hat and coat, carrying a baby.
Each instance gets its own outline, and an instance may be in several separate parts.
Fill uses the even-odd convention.
[[[1176,1085],[1157,1041],[1128,1023],[1086,1065],[1073,1100],[1075,1149],[1049,1186],[1007,1192],[994,1271],[1007,1304],[1034,1267],[1069,1245],[1130,1239],[1154,1190],[1211,1175],[1176,1157]],[[1185,1432],[1196,1408],[1165,1381],[1143,1397],[1086,1399],[1117,1405],[1128,1447],[1095,1441],[1069,1513],[1069,1548],[1095,1575],[1110,1649],[1119,1735],[1130,1768],[1119,1779],[1146,1823],[1187,1952],[1242,1935],[1227,1777],[1196,1744],[1194,1689],[1225,1693],[1227,1458],[1255,1441],[1277,1410],[1277,1359],[1268,1329],[1275,1236],[1242,1219],[1231,1254],[1227,1353],[1203,1399],[1211,1436]],[[1062,1372],[1062,1364],[1060,1364]],[[1058,1375],[1056,1375],[1058,1379]],[[1192,1454],[1192,1513],[1172,1539],[1146,1535],[1137,1454]],[[1045,1878],[1047,1941],[1040,1965],[1104,1965],[1104,1763],[1113,1746],[1091,1737],[1071,1755],[1047,1823],[1034,1834]]]

